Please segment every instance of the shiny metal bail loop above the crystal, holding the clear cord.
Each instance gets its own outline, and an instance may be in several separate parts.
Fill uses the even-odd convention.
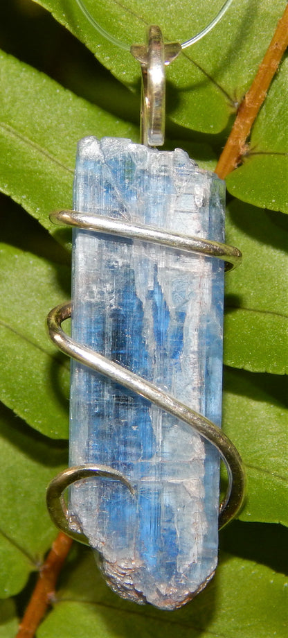
[[[148,31],[148,44],[132,44],[131,53],[141,64],[141,144],[163,146],[165,135],[165,65],[177,58],[181,44],[164,44],[159,26]]]

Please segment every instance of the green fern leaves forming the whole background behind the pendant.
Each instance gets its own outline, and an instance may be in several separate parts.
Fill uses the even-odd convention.
[[[221,5],[87,0],[125,42],[142,42],[151,22],[185,40]],[[213,170],[285,5],[235,0],[172,64],[167,148]],[[129,53],[93,31],[73,0],[10,0],[0,18],[0,638],[10,638],[56,533],[46,485],[67,465],[69,361],[44,325],[69,299],[70,237],[48,214],[71,207],[80,137],[138,140],[140,81]],[[244,163],[227,179],[226,239],[244,262],[226,279],[223,426],[244,459],[248,492],[220,533],[217,575],[182,610],[160,612],[118,599],[91,553],[75,546],[37,638],[287,635],[287,85],[286,58]]]

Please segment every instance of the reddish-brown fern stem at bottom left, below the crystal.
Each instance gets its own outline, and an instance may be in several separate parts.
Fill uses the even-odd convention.
[[[71,538],[60,532],[42,565],[36,587],[28,603],[15,638],[33,638],[55,594],[55,586],[64,560],[72,544]]]

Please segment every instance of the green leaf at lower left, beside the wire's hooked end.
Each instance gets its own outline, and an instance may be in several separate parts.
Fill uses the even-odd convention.
[[[30,430],[0,404],[0,597],[17,594],[56,535],[46,510],[49,481],[67,463],[63,442]],[[1,632],[0,632],[1,636]]]

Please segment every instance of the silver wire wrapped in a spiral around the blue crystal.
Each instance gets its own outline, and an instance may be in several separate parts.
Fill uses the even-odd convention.
[[[98,216],[96,214],[86,214],[80,211],[61,210],[51,214],[51,221],[58,224],[68,224],[80,227],[83,230],[107,233],[116,236],[125,236],[130,239],[138,239],[152,243],[161,243],[170,248],[188,250],[196,252],[206,257],[216,257],[225,261],[225,270],[232,270],[241,263],[242,255],[240,250],[233,246],[208,241],[186,235],[165,232],[152,226],[136,225],[127,221],[116,220]],[[123,366],[113,361],[109,361],[105,356],[94,352],[91,348],[76,343],[62,329],[62,322],[71,317],[71,302],[60,304],[48,315],[47,324],[49,336],[53,343],[65,354],[76,359],[80,363],[87,365],[92,370],[96,370],[105,377],[120,383],[125,388],[132,390],[148,399],[156,406],[168,412],[179,420],[190,425],[199,435],[208,440],[219,451],[224,460],[228,474],[228,487],[226,495],[219,506],[219,528],[224,527],[228,521],[233,519],[239,512],[244,501],[245,473],[240,454],[228,439],[228,437],[213,422],[203,415],[193,411],[188,406],[177,401],[169,393],[154,386],[134,372],[123,368]],[[127,489],[134,494],[134,488],[127,478],[107,465],[78,465],[70,467],[61,472],[50,485],[48,485],[46,501],[51,519],[67,535],[89,544],[87,537],[82,533],[79,522],[71,515],[66,508],[63,492],[76,481],[90,477],[106,476],[113,480],[121,481]]]

